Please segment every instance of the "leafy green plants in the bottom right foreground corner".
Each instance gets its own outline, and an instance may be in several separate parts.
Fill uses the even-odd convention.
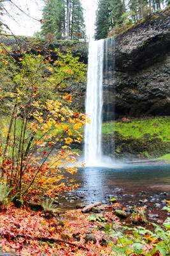
[[[113,230],[111,225],[106,225],[105,232],[113,237],[115,243],[110,241],[116,255],[155,255],[157,251],[167,256],[170,252],[169,220],[164,222],[164,227],[152,223],[154,231],[144,227],[123,227],[123,230]]]

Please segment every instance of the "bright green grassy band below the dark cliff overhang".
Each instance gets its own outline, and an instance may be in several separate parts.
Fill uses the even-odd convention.
[[[147,118],[132,120],[129,123],[110,122],[103,124],[103,134],[113,134],[117,131],[125,138],[140,139],[149,134],[164,142],[170,141],[170,117]]]

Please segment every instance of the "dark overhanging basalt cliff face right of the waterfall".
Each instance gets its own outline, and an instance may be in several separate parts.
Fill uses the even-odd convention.
[[[170,115],[170,8],[115,38],[109,84],[107,77],[104,95],[108,104],[115,97],[117,117]]]

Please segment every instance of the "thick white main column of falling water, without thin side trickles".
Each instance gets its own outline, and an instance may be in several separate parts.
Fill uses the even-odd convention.
[[[90,41],[87,74],[86,114],[90,124],[85,126],[85,164],[97,166],[101,161],[101,129],[103,109],[104,40]]]

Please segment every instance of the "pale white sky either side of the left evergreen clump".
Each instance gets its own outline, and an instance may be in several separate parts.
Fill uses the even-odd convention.
[[[39,31],[41,28],[41,23],[37,20],[42,18],[43,0],[13,0],[13,3],[17,4],[27,15],[13,5],[9,8],[10,3],[7,2],[6,10],[10,10],[9,13],[13,16],[13,19],[6,14],[3,15],[3,22],[8,25],[15,35],[34,35],[34,32]],[[92,38],[95,29],[97,0],[81,0],[81,3],[84,9],[87,36]]]

